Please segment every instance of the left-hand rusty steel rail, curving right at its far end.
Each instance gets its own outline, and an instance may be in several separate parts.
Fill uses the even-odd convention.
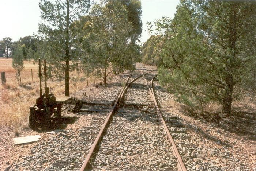
[[[150,72],[148,72],[148,73],[151,73],[151,72],[152,72],[152,71],[150,71]],[[143,74],[143,76],[146,75],[146,74],[148,74],[148,73]],[[142,77],[142,75],[140,75],[139,77],[136,77],[135,79],[133,79],[133,80],[128,84],[128,81],[129,81],[129,78],[131,77],[131,75],[132,75],[132,74],[129,75],[129,77],[128,77],[126,83],[125,83],[126,86],[124,86],[124,88],[123,88],[123,89],[121,90],[121,92],[119,93],[119,95],[118,95],[118,97],[117,97],[117,100],[116,100],[116,102],[114,103],[114,106],[113,106],[112,110],[111,110],[110,113],[108,114],[108,117],[106,118],[104,124],[102,125],[102,128],[101,128],[101,130],[99,131],[99,134],[98,134],[98,136],[96,137],[96,139],[95,139],[95,141],[94,141],[94,143],[93,143],[93,145],[92,145],[92,147],[91,147],[89,153],[87,154],[86,159],[84,160],[83,165],[82,165],[82,167],[80,168],[80,171],[87,171],[87,170],[91,170],[91,169],[92,169],[91,163],[92,163],[92,161],[94,160],[94,159],[93,159],[93,155],[96,153],[95,151],[96,151],[98,145],[101,143],[103,134],[105,133],[105,130],[108,128],[108,125],[109,125],[109,123],[110,123],[110,120],[111,120],[113,114],[118,111],[118,108],[119,108],[119,106],[120,106],[120,101],[124,98],[124,94],[126,93],[128,87],[129,87],[134,81],[136,81],[136,79]]]

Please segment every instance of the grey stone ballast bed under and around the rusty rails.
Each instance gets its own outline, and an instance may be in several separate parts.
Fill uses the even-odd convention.
[[[143,72],[153,70],[144,76],[148,85],[144,77],[140,77],[123,93],[118,110],[110,118],[111,124],[104,129],[101,143],[91,157],[89,170],[172,171],[180,168],[155,101],[187,170],[250,170],[243,161],[238,161],[240,156],[234,156],[231,148],[215,147],[198,132],[200,129],[178,116],[177,108],[172,109],[175,105],[172,94],[159,85],[157,78],[152,81],[157,74],[154,67],[138,63],[128,83],[142,74],[141,69]],[[6,165],[1,163],[6,166],[5,170],[80,170],[128,76],[124,73],[108,85],[94,85],[93,91],[87,87],[72,94],[85,102],[81,108],[78,106],[74,111],[76,101],[72,101],[65,106],[62,118],[54,118],[54,131],[41,130],[40,141],[13,147],[14,160]],[[214,129],[212,124],[205,126],[206,131]]]

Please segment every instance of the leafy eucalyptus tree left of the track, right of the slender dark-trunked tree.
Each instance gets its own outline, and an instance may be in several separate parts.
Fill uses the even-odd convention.
[[[120,1],[95,4],[90,14],[91,31],[83,44],[89,54],[87,60],[106,84],[108,74],[135,69],[133,55],[139,55],[139,47],[131,41],[132,23]]]

